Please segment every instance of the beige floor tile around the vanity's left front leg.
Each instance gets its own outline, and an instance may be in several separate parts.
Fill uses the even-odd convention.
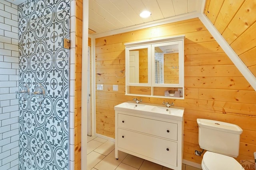
[[[127,153],[118,151],[118,160],[115,158],[115,150],[110,152],[102,161],[100,161],[94,168],[97,170],[115,170],[118,165],[124,160],[127,156]]]

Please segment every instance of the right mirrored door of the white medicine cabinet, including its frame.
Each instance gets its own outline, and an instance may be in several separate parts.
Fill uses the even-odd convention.
[[[152,86],[183,87],[182,41],[152,44]]]

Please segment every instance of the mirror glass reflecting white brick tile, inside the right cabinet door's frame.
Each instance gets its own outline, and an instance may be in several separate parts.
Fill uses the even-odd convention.
[[[155,83],[179,83],[178,44],[155,47]]]

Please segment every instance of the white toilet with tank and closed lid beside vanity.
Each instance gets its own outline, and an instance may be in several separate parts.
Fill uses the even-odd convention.
[[[243,130],[238,125],[208,119],[197,119],[197,124],[199,146],[208,150],[203,156],[203,170],[244,170],[232,158],[239,154]]]

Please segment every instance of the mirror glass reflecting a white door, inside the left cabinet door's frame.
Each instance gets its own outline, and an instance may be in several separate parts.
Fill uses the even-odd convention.
[[[148,48],[129,51],[129,83],[148,83]]]

